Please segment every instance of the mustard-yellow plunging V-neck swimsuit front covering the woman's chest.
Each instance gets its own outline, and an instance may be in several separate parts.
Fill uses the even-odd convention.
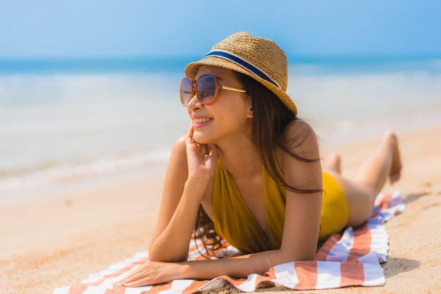
[[[213,222],[216,233],[244,253],[279,249],[285,220],[285,188],[279,187],[262,166],[268,240],[221,159],[218,159],[215,175]]]

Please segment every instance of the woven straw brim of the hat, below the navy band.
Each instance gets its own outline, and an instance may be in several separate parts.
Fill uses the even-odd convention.
[[[218,66],[220,68],[227,68],[231,71],[237,71],[239,73],[243,73],[244,75],[248,75],[251,78],[254,78],[254,80],[257,80],[262,85],[264,85],[269,90],[271,90],[271,92],[276,94],[277,97],[279,97],[279,99],[283,102],[283,104],[285,104],[285,106],[287,106],[288,109],[290,109],[292,112],[294,112],[295,115],[297,115],[297,107],[295,106],[294,102],[292,102],[292,99],[285,91],[280,90],[280,88],[274,85],[273,83],[268,82],[263,78],[259,78],[253,73],[250,73],[246,69],[242,68],[242,66],[239,66],[238,64],[228,61],[226,59],[222,59],[216,56],[207,56],[199,61],[189,63],[185,67],[185,76],[194,79],[194,77],[197,74],[197,70],[201,66]]]

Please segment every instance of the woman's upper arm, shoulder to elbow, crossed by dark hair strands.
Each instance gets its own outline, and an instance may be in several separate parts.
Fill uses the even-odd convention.
[[[280,164],[288,185],[317,192],[286,191],[285,224],[280,247],[289,259],[312,260],[316,254],[323,199],[323,179],[316,134],[304,121],[292,123],[286,132],[286,146],[304,159],[294,159],[283,152]],[[303,138],[299,142],[293,138]]]

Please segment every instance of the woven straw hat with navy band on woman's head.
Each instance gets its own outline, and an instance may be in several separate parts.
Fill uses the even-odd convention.
[[[297,107],[288,94],[288,66],[285,52],[274,41],[237,32],[211,48],[203,59],[189,63],[185,75],[194,78],[201,66],[218,66],[249,75],[261,82],[294,114]]]

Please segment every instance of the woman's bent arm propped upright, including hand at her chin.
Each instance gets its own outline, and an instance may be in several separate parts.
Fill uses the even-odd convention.
[[[210,159],[217,160],[217,150],[195,145],[192,135],[190,127],[187,135],[173,145],[159,217],[149,246],[150,261],[187,260],[199,204],[213,173]]]

